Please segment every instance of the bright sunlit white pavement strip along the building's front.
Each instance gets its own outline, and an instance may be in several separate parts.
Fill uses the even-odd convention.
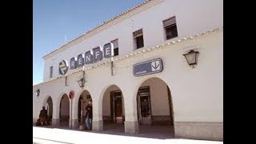
[[[137,136],[116,133],[109,130],[102,132],[97,131],[86,131],[86,130],[68,130],[59,129],[53,127],[38,127],[33,126],[33,143],[34,144],[60,144],[60,143],[111,143],[111,144],[126,144],[126,143],[163,143],[163,144],[222,144],[223,142],[218,141],[206,141],[206,140],[195,140],[195,139],[183,139],[173,137],[158,137],[158,132],[137,134]]]

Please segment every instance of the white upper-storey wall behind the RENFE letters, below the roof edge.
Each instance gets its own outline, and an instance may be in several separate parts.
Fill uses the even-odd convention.
[[[158,4],[143,10],[145,6],[157,1],[159,1]],[[70,58],[77,57],[78,54],[84,54],[95,46],[103,46],[116,38],[118,38],[119,43],[119,55],[130,54],[134,50],[132,33],[141,28],[143,29],[144,47],[162,44],[165,42],[162,21],[173,16],[176,16],[178,38],[223,26],[222,3],[222,0],[153,0],[144,6],[140,6],[136,10],[141,11],[138,14],[130,17],[126,16],[127,18],[122,22],[118,22],[114,26],[84,39],[51,58],[46,58],[44,62],[44,82],[50,78],[50,66],[54,66],[53,76],[57,77],[59,76],[58,63],[63,59],[66,59],[70,65]],[[72,72],[74,70],[68,70],[68,74]]]

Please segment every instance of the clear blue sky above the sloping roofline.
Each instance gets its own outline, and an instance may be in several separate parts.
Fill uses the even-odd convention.
[[[42,82],[42,56],[145,1],[33,0],[33,85]]]

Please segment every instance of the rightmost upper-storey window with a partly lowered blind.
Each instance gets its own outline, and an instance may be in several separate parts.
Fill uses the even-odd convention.
[[[178,37],[176,18],[169,18],[163,21],[163,26],[166,30],[166,40]]]

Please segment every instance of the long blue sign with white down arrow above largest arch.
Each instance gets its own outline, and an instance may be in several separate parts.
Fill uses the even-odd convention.
[[[163,70],[162,59],[155,58],[146,62],[134,64],[134,76],[142,76],[146,74],[160,73]]]

